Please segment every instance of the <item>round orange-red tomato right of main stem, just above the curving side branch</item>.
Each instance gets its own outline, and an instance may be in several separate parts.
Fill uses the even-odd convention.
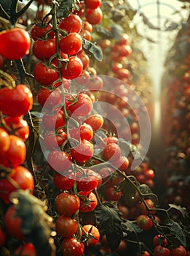
[[[103,149],[103,158],[106,161],[114,162],[121,157],[121,148],[116,143],[108,144]]]

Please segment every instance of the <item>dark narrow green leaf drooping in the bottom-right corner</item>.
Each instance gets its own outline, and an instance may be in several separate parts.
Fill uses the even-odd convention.
[[[183,232],[183,228],[178,224],[178,222],[175,222],[173,219],[169,219],[166,225],[169,228],[170,233],[175,236],[175,238],[178,238],[181,244],[186,247],[186,235]]]

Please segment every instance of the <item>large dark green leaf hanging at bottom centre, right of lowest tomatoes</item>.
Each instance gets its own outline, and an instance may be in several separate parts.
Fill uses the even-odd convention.
[[[95,218],[101,235],[106,235],[113,252],[123,238],[121,214],[116,203],[103,203],[95,208]]]

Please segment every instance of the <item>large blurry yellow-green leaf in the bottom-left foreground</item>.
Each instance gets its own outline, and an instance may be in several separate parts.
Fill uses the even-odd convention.
[[[12,192],[10,199],[15,204],[15,216],[22,219],[22,233],[33,243],[36,254],[50,255],[52,217],[44,211],[45,204],[31,195],[28,190],[22,189]]]

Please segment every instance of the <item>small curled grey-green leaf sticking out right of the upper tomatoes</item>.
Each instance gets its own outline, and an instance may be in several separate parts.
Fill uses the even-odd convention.
[[[92,56],[94,56],[95,59],[98,61],[103,60],[103,52],[101,48],[98,45],[95,45],[95,43],[88,41],[87,39],[82,39],[82,46],[84,51],[90,55],[92,53]]]

